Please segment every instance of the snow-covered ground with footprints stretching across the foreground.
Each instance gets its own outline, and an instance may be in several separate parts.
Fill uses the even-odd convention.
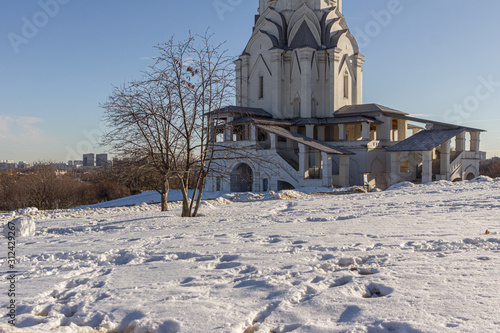
[[[171,208],[24,212],[0,332],[499,331],[500,181]]]

